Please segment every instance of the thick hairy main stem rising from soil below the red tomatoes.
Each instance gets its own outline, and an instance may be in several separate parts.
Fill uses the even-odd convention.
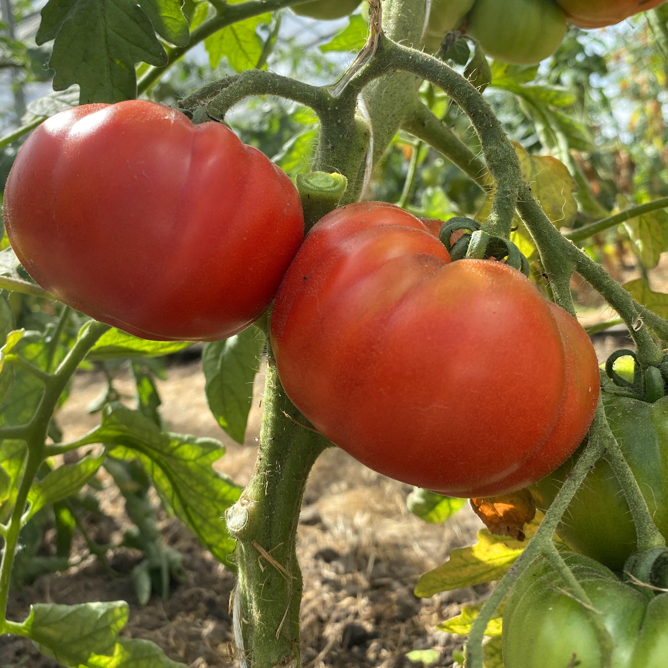
[[[227,511],[237,540],[236,563],[243,648],[251,668],[300,664],[302,578],[295,544],[309,471],[329,442],[315,432],[285,395],[271,358],[255,472]]]

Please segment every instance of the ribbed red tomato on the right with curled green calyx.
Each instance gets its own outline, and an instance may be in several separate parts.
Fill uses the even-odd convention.
[[[450,263],[420,220],[383,202],[315,224],[281,283],[271,342],[317,430],[373,470],[450,496],[554,470],[599,393],[570,315],[507,265]]]

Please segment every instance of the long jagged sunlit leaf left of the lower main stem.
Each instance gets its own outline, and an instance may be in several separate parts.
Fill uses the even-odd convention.
[[[118,446],[112,456],[138,458],[167,506],[216,559],[229,565],[234,540],[222,515],[242,488],[213,470],[211,464],[225,452],[218,441],[160,432],[139,411],[110,403],[102,411],[102,426],[83,439],[82,445],[87,443]]]

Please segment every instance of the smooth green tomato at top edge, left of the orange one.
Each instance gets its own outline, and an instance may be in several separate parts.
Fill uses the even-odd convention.
[[[566,15],[554,0],[478,0],[468,31],[493,58],[533,65],[558,49]]]

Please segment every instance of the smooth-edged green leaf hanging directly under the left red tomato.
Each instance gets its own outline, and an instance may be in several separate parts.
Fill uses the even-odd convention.
[[[253,379],[264,347],[264,333],[251,325],[230,339],[205,343],[202,350],[206,403],[218,424],[237,443],[244,442],[253,403]]]

